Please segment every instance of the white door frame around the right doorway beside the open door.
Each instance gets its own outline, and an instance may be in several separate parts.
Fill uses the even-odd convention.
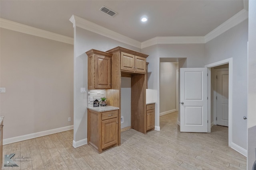
[[[228,146],[232,146],[232,99],[233,99],[233,58],[225,59],[215,63],[207,64],[205,67],[208,68],[208,133],[211,132],[211,68],[223,64],[228,64]]]

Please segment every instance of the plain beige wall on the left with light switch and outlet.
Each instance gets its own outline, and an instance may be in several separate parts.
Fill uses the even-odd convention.
[[[73,125],[73,45],[0,31],[3,138]]]

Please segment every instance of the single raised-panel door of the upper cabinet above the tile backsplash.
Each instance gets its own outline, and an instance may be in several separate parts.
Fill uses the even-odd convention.
[[[111,58],[95,55],[95,88],[111,88]]]

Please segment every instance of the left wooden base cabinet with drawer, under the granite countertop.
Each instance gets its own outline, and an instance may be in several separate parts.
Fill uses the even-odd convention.
[[[88,144],[99,153],[118,145],[119,110],[97,112],[88,109]]]

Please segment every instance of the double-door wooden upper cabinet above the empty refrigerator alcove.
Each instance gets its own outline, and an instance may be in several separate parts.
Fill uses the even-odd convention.
[[[120,63],[116,63],[120,64],[122,72],[146,73],[146,58],[148,55],[123,47],[116,47],[107,52],[114,54],[116,59],[120,57]]]

